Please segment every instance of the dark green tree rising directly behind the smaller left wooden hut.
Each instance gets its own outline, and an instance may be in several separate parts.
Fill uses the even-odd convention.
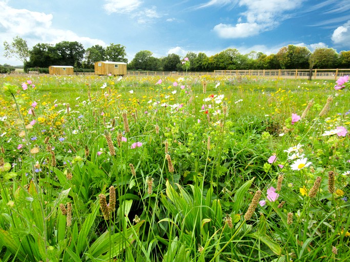
[[[81,67],[85,53],[84,46],[81,43],[77,41],[61,41],[56,43],[55,47],[60,55],[58,65]]]

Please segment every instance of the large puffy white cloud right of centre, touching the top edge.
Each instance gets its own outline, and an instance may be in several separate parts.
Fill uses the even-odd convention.
[[[206,5],[233,4],[235,1],[210,1]],[[222,38],[242,38],[258,35],[277,27],[280,21],[289,18],[288,12],[301,6],[303,0],[240,0],[238,5],[246,7],[236,25],[219,24],[214,31]],[[245,20],[245,23],[242,21]]]

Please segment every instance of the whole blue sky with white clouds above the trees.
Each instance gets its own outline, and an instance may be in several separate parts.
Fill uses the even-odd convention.
[[[85,48],[120,43],[129,61],[228,48],[277,53],[289,44],[350,50],[349,0],[0,0],[0,64],[6,40],[79,41]]]

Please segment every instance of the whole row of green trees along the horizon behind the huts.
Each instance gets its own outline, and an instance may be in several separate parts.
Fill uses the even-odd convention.
[[[37,43],[31,49],[27,41],[19,36],[11,43],[4,42],[5,57],[16,57],[26,68],[48,68],[50,65],[72,65],[75,68],[93,69],[96,61],[128,62],[126,47],[111,43],[106,48],[95,45],[84,49],[77,41],[61,41],[56,45]],[[141,50],[128,63],[128,70],[139,71],[185,71],[206,72],[214,70],[249,69],[333,69],[350,68],[350,51],[337,51],[333,48],[317,48],[311,52],[306,47],[289,45],[282,47],[277,54],[266,55],[251,51],[240,54],[229,48],[212,56],[205,53],[188,52],[189,60],[177,54],[157,58],[148,50]],[[185,66],[186,65],[186,66]]]

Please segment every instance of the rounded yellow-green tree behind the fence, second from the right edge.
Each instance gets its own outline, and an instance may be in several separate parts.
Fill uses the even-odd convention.
[[[337,68],[338,57],[337,51],[333,48],[316,48],[309,58],[310,68]]]

